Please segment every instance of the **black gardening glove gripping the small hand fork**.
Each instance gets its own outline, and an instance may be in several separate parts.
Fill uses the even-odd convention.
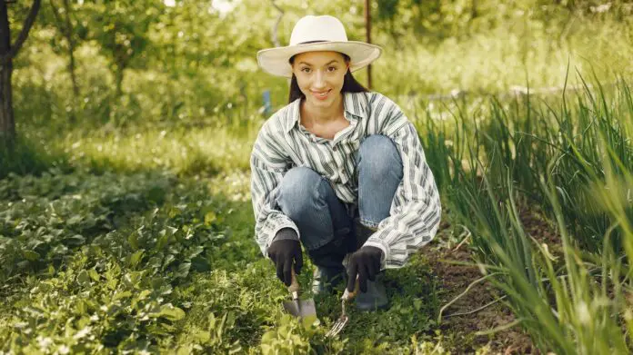
[[[367,292],[367,279],[376,281],[380,271],[380,260],[383,251],[377,247],[365,246],[355,251],[347,264],[347,291],[354,291],[354,284],[358,275],[360,291]]]

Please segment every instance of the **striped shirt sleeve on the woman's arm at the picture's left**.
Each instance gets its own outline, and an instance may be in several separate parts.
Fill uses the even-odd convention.
[[[255,239],[265,257],[268,256],[266,250],[276,232],[291,228],[295,230],[296,237],[299,236],[295,222],[281,212],[276,204],[279,182],[286,173],[286,158],[271,134],[266,125],[262,127],[250,157]]]

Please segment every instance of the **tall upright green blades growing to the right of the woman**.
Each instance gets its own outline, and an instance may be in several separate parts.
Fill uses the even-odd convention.
[[[491,99],[480,111],[461,106],[450,127],[427,120],[422,140],[485,277],[538,347],[628,353],[632,97],[624,81],[585,88],[548,101]],[[555,222],[558,245],[526,232],[521,213],[537,205]]]

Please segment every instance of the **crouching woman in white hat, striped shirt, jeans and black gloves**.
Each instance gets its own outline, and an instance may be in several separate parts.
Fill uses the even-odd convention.
[[[316,265],[315,293],[346,276],[353,291],[358,279],[361,310],[387,307],[377,275],[430,242],[441,214],[413,124],[351,74],[381,51],[347,41],[336,17],[308,15],[289,46],[257,54],[291,85],[289,104],[266,121],[251,153],[256,242],[286,286],[303,266],[301,244]]]

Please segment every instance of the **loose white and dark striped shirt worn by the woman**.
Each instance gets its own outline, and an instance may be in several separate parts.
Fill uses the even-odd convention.
[[[297,99],[273,114],[259,131],[250,158],[255,238],[266,249],[276,232],[295,222],[280,211],[276,191],[284,174],[296,166],[308,167],[332,184],[338,199],[357,204],[358,180],[354,154],[363,138],[383,134],[396,143],[402,157],[403,179],[391,202],[390,215],[364,244],[383,252],[382,268],[399,268],[409,256],[430,242],[437,232],[441,205],[416,128],[400,108],[377,93],[344,93],[344,115],[349,126],[332,140],[317,137],[299,122]]]

